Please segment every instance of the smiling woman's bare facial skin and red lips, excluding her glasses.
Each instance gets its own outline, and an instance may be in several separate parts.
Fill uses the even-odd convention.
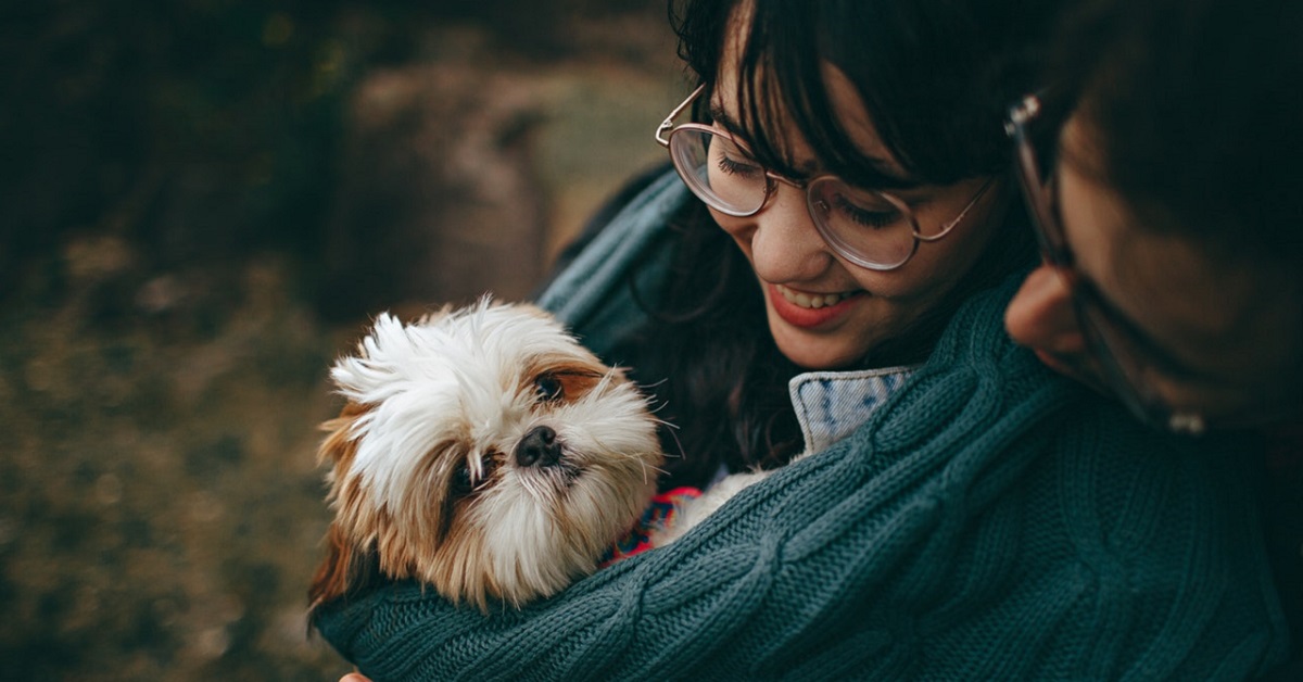
[[[907,179],[850,80],[831,65],[823,69],[823,77],[859,151],[887,175]],[[726,69],[710,102],[711,110],[722,115],[717,120],[739,120],[736,91],[735,74]],[[804,140],[795,132],[784,140],[805,179],[821,172]],[[924,232],[933,232],[959,215],[986,180],[917,185],[891,193],[909,205]],[[999,183],[992,185],[950,235],[919,244],[913,258],[890,271],[859,267],[829,248],[810,219],[803,189],[778,183],[765,207],[748,218],[714,210],[711,214],[754,269],[779,351],[807,369],[838,369],[872,363],[878,344],[904,334],[954,295],[955,283],[973,266],[1001,223],[1005,196]]]

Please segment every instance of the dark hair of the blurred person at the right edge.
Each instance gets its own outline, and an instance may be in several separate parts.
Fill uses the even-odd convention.
[[[1055,110],[1075,110],[1091,145],[1075,166],[1138,227],[1298,282],[1303,3],[1092,0],[1059,34]]]

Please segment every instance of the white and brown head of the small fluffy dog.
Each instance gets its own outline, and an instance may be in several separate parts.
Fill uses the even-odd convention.
[[[348,404],[323,425],[336,516],[314,604],[374,553],[452,601],[519,606],[592,572],[654,492],[645,399],[537,308],[380,316],[331,377]]]

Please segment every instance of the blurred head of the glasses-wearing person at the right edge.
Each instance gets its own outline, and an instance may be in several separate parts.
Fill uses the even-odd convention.
[[[1011,113],[1049,263],[1009,331],[1167,428],[1303,404],[1303,3],[1087,1]]]

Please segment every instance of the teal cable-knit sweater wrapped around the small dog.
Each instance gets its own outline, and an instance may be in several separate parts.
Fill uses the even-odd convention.
[[[649,193],[665,205],[631,205],[593,262],[612,262],[610,244],[623,266],[658,262],[655,224],[681,192]],[[589,256],[571,270],[593,273]],[[324,608],[318,629],[377,682],[1243,679],[1282,660],[1237,443],[1148,432],[1053,376],[1006,336],[1011,293],[969,300],[851,437],[667,548],[523,610],[395,583]],[[602,340],[629,310],[611,300],[549,305]]]

